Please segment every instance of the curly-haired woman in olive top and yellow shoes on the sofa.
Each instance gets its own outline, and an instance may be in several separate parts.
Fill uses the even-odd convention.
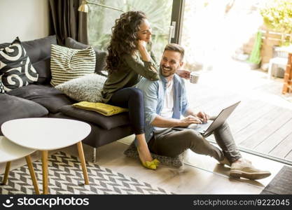
[[[141,163],[148,169],[156,169],[158,160],[151,157],[144,134],[143,93],[134,87],[141,76],[159,79],[155,57],[146,50],[146,44],[151,42],[151,27],[143,12],[130,11],[120,15],[112,32],[106,59],[109,77],[102,90],[103,102],[129,109]]]

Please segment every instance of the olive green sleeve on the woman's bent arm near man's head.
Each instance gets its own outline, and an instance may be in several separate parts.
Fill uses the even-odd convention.
[[[150,62],[143,61],[135,55],[124,55],[124,59],[133,71],[136,71],[144,78],[147,78],[148,80],[159,79],[158,67],[152,57]]]

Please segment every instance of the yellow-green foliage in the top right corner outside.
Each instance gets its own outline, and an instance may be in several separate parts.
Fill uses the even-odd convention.
[[[274,0],[260,10],[265,25],[276,31],[292,33],[292,1]]]

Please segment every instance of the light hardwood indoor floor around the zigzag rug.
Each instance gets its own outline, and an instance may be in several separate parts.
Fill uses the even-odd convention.
[[[259,194],[283,166],[282,163],[273,160],[243,153],[244,158],[251,160],[256,167],[270,170],[272,176],[259,181],[230,179],[228,176],[229,167],[218,165],[216,160],[208,156],[197,155],[188,151],[185,165],[180,169],[160,165],[156,171],[153,171],[142,167],[139,160],[127,158],[123,155],[132,141],[133,136],[130,136],[98,148],[97,165],[176,194]],[[92,148],[83,144],[83,149],[86,161],[90,162],[92,160]],[[78,150],[75,145],[58,151],[64,151],[78,157]],[[50,153],[55,152],[57,151],[50,151]],[[32,155],[33,161],[40,158],[39,152]],[[13,161],[11,169],[25,164],[24,158]],[[0,174],[4,173],[4,169],[5,165],[1,164]]]

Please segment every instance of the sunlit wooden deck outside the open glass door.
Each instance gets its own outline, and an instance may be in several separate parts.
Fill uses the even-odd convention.
[[[228,118],[237,146],[292,163],[292,103],[281,95],[281,80],[248,69],[204,72],[199,81],[187,83],[193,109],[214,115],[240,100]]]

